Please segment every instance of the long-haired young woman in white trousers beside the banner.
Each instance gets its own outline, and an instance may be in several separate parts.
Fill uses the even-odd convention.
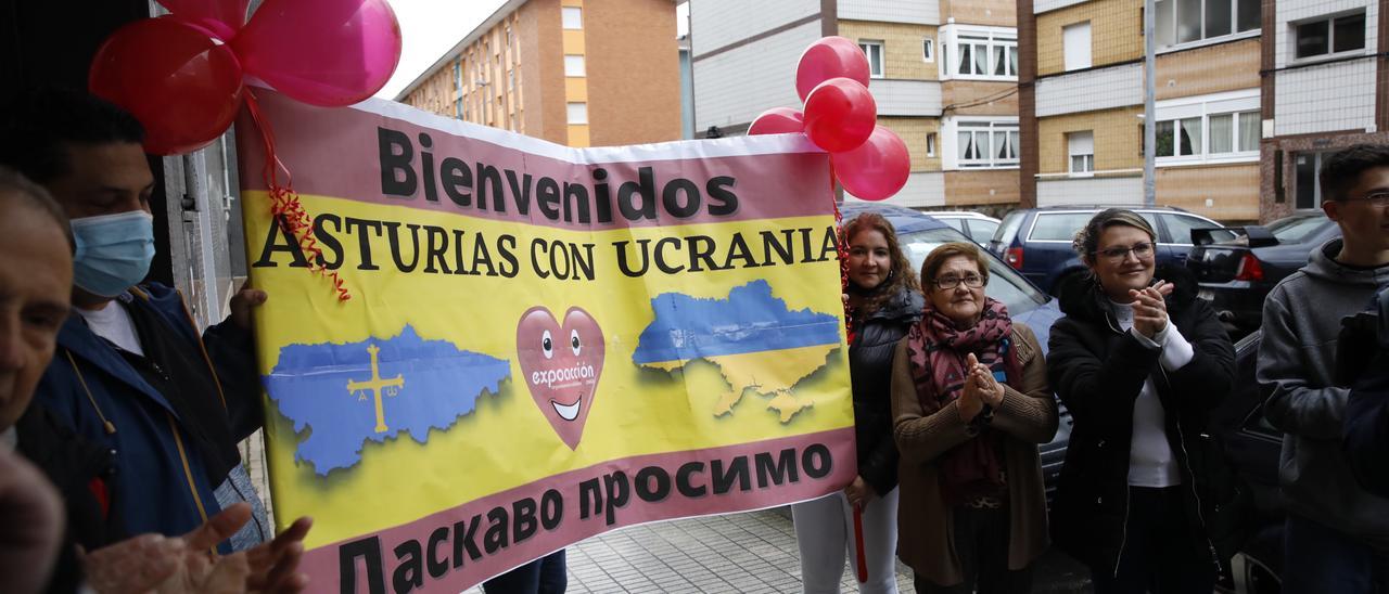
[[[806,593],[838,593],[845,557],[858,573],[854,508],[863,516],[863,593],[897,591],[897,447],[892,443],[889,373],[892,351],[921,318],[921,293],[911,261],[888,219],[865,212],[845,225],[849,294],[854,330],[849,372],[854,400],[858,476],[843,491],[792,505]]]

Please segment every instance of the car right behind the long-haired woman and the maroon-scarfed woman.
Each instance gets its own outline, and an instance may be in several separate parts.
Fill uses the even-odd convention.
[[[964,233],[942,221],[935,219],[935,214],[918,212],[911,208],[895,207],[879,203],[845,203],[840,207],[845,221],[850,221],[863,212],[878,212],[897,230],[897,240],[903,253],[911,260],[911,266],[921,271],[926,254],[947,241],[968,241]],[[1018,322],[1026,323],[1038,334],[1042,350],[1047,348],[1047,337],[1051,334],[1051,325],[1061,318],[1061,308],[1056,298],[1043,293],[1028,279],[1001,260],[983,251],[989,264],[989,286],[985,293],[1008,307],[1008,315]],[[1071,441],[1071,414],[1064,405],[1060,407],[1061,422],[1056,437],[1049,444],[1038,448],[1042,457],[1042,477],[1046,483],[1047,502],[1056,491],[1056,482],[1061,477],[1061,465],[1065,464],[1065,446]]]

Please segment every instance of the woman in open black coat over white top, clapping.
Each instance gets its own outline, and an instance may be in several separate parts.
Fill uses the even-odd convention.
[[[1074,416],[1051,537],[1089,565],[1097,594],[1210,593],[1233,486],[1207,418],[1235,351],[1190,273],[1154,266],[1140,215],[1106,210],[1074,247],[1089,273],[1063,289],[1047,355]]]

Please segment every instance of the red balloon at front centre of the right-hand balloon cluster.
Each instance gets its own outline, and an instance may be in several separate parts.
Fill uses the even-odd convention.
[[[878,103],[856,80],[832,78],[806,97],[806,136],[831,153],[863,144],[876,124]]]

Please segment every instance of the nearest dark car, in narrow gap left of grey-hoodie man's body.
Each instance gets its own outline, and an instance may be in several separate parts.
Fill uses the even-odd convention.
[[[1278,459],[1283,433],[1264,418],[1264,397],[1254,380],[1261,332],[1235,343],[1235,389],[1214,411],[1211,430],[1222,437],[1225,455],[1251,493],[1246,518],[1249,538],[1221,575],[1224,593],[1278,593],[1283,570],[1285,508],[1278,493]]]

